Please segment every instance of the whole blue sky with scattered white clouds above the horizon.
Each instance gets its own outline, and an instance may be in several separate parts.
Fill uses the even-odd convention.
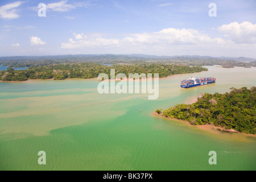
[[[256,58],[255,10],[256,0],[1,0],[0,56]]]

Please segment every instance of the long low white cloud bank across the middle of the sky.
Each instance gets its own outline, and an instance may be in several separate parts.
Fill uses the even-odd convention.
[[[61,48],[92,48],[92,47],[168,47],[170,45],[192,45],[192,44],[222,44],[221,38],[209,38],[207,34],[202,34],[193,29],[166,28],[159,32],[149,32],[143,34],[131,34],[121,39],[102,38],[100,34],[85,36],[75,34],[76,40],[69,39],[68,43],[62,43]]]

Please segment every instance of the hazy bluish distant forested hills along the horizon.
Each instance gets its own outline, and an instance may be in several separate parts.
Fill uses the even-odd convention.
[[[225,68],[256,67],[255,59],[246,57],[225,58],[210,56],[151,56],[151,55],[63,55],[63,56],[13,56],[0,57],[0,64],[7,67],[39,67],[51,64],[99,63],[99,64],[180,64],[222,65]]]

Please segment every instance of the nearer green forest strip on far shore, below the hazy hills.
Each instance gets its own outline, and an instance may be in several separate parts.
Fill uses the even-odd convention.
[[[40,61],[38,62],[38,64]],[[45,63],[43,61],[43,63]],[[66,78],[96,78],[100,73],[106,73],[110,77],[110,69],[115,69],[115,75],[118,73],[159,73],[159,77],[170,75],[195,73],[208,71],[203,67],[189,67],[187,65],[176,64],[115,64],[112,66],[98,63],[62,63],[31,66],[24,71],[16,71],[9,68],[6,71],[0,71],[0,80],[2,81],[24,81],[28,79],[51,79],[65,80]]]

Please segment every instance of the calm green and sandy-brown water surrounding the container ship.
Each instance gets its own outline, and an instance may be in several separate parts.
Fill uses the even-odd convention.
[[[0,82],[0,169],[255,170],[256,138],[152,115],[200,93],[256,86],[256,68],[207,68],[160,79],[154,101],[98,94],[96,80]],[[181,89],[180,80],[191,76],[217,82]],[[38,164],[39,151],[46,151],[46,166]],[[217,152],[216,166],[209,151]]]

